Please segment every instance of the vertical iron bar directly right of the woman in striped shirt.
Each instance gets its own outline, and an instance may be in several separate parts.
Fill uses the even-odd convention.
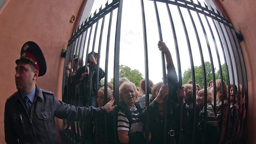
[[[148,144],[148,133],[149,133],[149,86],[148,86],[148,43],[147,43],[147,29],[146,29],[146,20],[145,20],[145,10],[144,2],[141,0],[141,15],[143,23],[143,40],[144,40],[144,56],[145,56],[145,86],[146,88],[146,144]]]

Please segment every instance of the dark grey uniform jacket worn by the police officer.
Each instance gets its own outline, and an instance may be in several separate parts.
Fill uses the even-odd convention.
[[[6,100],[4,130],[7,144],[57,144],[54,117],[85,120],[106,113],[104,107],[75,107],[59,101],[52,92],[36,86],[35,99],[29,116],[20,92]],[[18,142],[19,140],[19,142]]]

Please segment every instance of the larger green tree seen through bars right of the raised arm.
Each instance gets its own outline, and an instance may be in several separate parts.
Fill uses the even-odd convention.
[[[206,85],[208,85],[209,81],[213,79],[213,75],[211,72],[211,63],[209,61],[204,62],[205,66],[205,73],[206,73]],[[202,65],[194,66],[195,69],[195,80],[196,84],[198,84],[201,88],[204,86],[204,76],[203,76],[203,70],[202,70]],[[216,69],[214,68],[214,72]],[[215,73],[216,75],[216,73]],[[183,76],[182,76],[182,84],[186,84],[189,79],[192,79],[192,71],[191,68],[188,68],[185,70]]]

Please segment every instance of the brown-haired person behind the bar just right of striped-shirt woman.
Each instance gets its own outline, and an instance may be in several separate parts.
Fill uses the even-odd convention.
[[[148,82],[149,82],[148,85],[149,85],[149,99],[150,99],[150,97],[152,96],[151,91],[152,91],[152,88],[153,88],[154,84],[153,84],[153,82],[150,79],[149,79]],[[140,81],[139,89],[141,90],[141,92],[143,94],[143,96],[139,98],[139,105],[141,106],[141,109],[144,109],[145,106],[146,106],[146,94],[145,94],[145,92],[146,92],[146,85],[145,85],[145,79],[142,79]]]

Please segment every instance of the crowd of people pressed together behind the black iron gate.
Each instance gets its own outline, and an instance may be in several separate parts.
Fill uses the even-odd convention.
[[[193,81],[189,80],[187,84],[179,86],[169,49],[162,41],[159,41],[158,49],[165,54],[167,62],[167,84],[163,82],[154,84],[149,79],[149,107],[146,108],[147,86],[145,85],[145,79],[140,81],[139,86],[135,86],[126,77],[119,78],[120,104],[117,112],[108,113],[108,115],[91,121],[88,120],[89,127],[81,126],[82,131],[90,131],[89,133],[84,133],[86,136],[82,135],[83,141],[95,144],[104,144],[106,141],[114,143],[114,119],[116,118],[119,142],[124,144],[144,144],[146,140],[145,124],[147,121],[147,111],[150,113],[148,121],[148,140],[150,144],[162,144],[165,142],[174,144],[178,143],[179,140],[181,143],[187,144],[191,143],[193,138],[194,143],[202,143],[204,141],[206,144],[222,144],[225,139],[232,139],[239,133],[240,123],[245,118],[245,98],[242,99],[241,96],[241,85],[240,92],[237,92],[236,85],[230,85],[229,104],[228,86],[221,79],[217,79],[215,81],[217,98],[215,109],[213,106],[213,80],[208,83],[207,88],[201,88],[200,85],[196,84],[196,104],[194,107]],[[77,65],[77,59],[74,58],[73,65]],[[81,59],[79,61],[81,62]],[[82,100],[82,106],[103,106],[113,97],[113,85],[108,83],[106,91],[108,98],[105,99],[104,84],[101,86],[100,83],[100,80],[104,77],[104,71],[102,68],[99,68],[100,71],[97,72],[97,53],[89,53],[87,61],[88,65],[75,68],[73,71],[67,65],[67,79],[69,78],[67,73],[74,73],[78,69],[71,76],[70,82],[78,85],[76,95],[79,97],[79,101]],[[97,73],[99,73],[99,77],[96,77]],[[92,81],[91,84],[90,81]],[[224,91],[222,91],[222,86]],[[90,91],[91,97],[89,97]],[[236,96],[236,99],[234,99],[234,96]],[[180,101],[180,97],[182,97],[183,101]],[[207,103],[205,104],[204,99],[206,98]],[[167,112],[164,112],[164,101],[167,101]],[[180,106],[183,109],[182,120],[180,120]],[[241,116],[242,114],[243,116]],[[164,125],[166,120],[167,125]],[[179,130],[180,121],[182,121],[182,131]],[[83,122],[83,125],[87,124],[88,122]],[[167,133],[163,133],[164,130],[167,130]],[[193,134],[195,135],[193,136]],[[163,141],[163,137],[166,137],[165,142]],[[179,137],[182,137],[182,139],[178,139]]]

